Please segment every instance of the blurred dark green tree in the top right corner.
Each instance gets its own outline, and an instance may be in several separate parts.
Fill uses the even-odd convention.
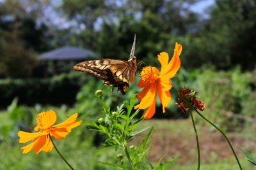
[[[256,1],[216,0],[200,41],[208,62],[217,68],[256,64]]]

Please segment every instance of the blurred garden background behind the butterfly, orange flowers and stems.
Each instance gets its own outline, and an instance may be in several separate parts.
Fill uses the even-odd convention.
[[[172,57],[178,41],[182,66],[173,88],[195,89],[205,117],[235,147],[256,153],[255,0],[0,0],[0,169],[66,168],[55,151],[22,155],[17,132],[32,132],[36,115],[50,109],[59,122],[76,112],[80,120],[97,121],[104,117],[94,97],[98,89],[113,110],[140,92],[139,74],[122,96],[92,75],[72,71],[83,60],[127,60],[134,34],[137,60],[156,67],[157,54]],[[176,102],[173,95],[164,114],[157,103],[154,118],[141,124],[155,127],[149,160],[181,156],[170,169],[196,169],[192,124]],[[225,139],[195,118],[202,169],[236,169]],[[109,169],[97,161],[111,162],[117,153],[95,152],[104,136],[86,128],[58,141],[60,150],[77,169]],[[252,169],[236,152],[244,169]]]

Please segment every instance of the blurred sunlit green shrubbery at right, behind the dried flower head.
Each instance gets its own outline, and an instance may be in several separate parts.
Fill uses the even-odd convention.
[[[230,71],[216,71],[208,67],[185,71],[181,69],[173,78],[174,87],[188,86],[196,90],[197,97],[205,103],[206,117],[221,127],[233,130],[244,126],[243,119],[230,118],[228,114],[255,118],[255,88],[253,73],[241,72],[239,67]],[[250,125],[252,122],[246,122]]]

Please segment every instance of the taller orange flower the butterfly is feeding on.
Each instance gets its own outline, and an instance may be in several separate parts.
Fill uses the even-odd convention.
[[[172,96],[169,90],[172,88],[170,78],[173,78],[180,68],[179,55],[182,51],[182,46],[178,43],[175,44],[172,60],[169,62],[169,56],[166,52],[161,52],[158,55],[158,60],[161,64],[161,71],[156,67],[143,67],[141,71],[141,80],[138,87],[144,88],[137,94],[140,104],[134,106],[134,109],[148,110],[143,115],[144,118],[151,118],[156,111],[156,96],[163,105],[163,112],[168,105]]]

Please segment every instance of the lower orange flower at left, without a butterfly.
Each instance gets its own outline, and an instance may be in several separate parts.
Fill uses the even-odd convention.
[[[50,152],[52,150],[52,141],[50,136],[56,139],[63,139],[67,136],[68,132],[72,128],[77,127],[81,124],[81,120],[76,121],[78,113],[75,113],[64,122],[53,125],[56,122],[56,112],[53,110],[47,112],[41,112],[37,115],[37,125],[35,127],[35,133],[19,131],[18,136],[20,143],[26,143],[33,141],[29,145],[20,148],[23,150],[22,153],[28,153],[35,149],[35,153],[39,153],[42,150]]]

